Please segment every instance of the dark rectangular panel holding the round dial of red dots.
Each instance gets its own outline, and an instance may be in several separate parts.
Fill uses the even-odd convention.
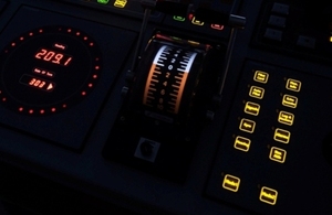
[[[1,125],[81,149],[135,33],[21,7],[0,36]]]

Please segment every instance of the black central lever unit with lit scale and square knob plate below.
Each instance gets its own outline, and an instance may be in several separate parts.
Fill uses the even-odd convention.
[[[128,86],[104,157],[183,181],[220,75],[220,65],[210,61],[215,51],[156,34]]]

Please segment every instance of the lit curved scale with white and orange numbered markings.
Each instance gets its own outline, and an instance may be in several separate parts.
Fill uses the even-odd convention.
[[[148,72],[143,104],[164,112],[178,114],[184,89],[197,53],[163,45]]]

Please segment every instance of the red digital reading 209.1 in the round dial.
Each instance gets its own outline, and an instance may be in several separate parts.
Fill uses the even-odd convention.
[[[34,55],[35,58],[51,62],[53,64],[68,66],[72,62],[73,57],[63,53],[59,53],[52,50],[48,50],[44,47],[41,47],[37,54]]]

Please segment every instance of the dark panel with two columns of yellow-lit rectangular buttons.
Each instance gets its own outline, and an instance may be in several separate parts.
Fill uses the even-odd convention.
[[[312,181],[329,184],[332,179],[331,169],[315,175],[315,166],[328,166],[320,163],[323,158],[311,159],[322,154],[324,136],[332,130],[332,80],[256,62],[248,62],[242,72],[206,193],[258,214],[288,214],[294,200],[314,196],[303,191],[320,190]],[[240,185],[225,181],[225,175],[236,175]],[[325,198],[311,201],[329,204]]]

